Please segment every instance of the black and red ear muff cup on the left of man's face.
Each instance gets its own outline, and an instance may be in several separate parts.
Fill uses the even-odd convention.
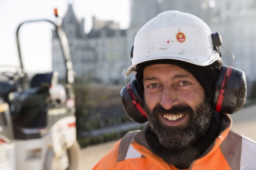
[[[133,79],[120,92],[123,108],[126,114],[136,123],[147,122],[147,116],[143,110],[143,99],[139,92],[137,80]]]

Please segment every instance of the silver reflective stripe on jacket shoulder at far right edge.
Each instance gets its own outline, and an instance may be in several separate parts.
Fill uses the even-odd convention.
[[[256,142],[242,136],[241,170],[256,169]]]

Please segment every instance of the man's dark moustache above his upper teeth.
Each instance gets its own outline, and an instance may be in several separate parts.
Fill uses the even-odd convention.
[[[164,115],[164,114],[178,115],[179,113],[192,114],[194,113],[194,110],[190,106],[184,103],[174,105],[168,110],[164,109],[162,105],[157,104],[152,112],[153,114],[160,114],[160,115]]]

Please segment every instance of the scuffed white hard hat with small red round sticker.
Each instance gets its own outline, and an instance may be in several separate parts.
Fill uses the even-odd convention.
[[[148,21],[135,36],[132,64],[126,76],[137,72],[137,64],[174,59],[207,66],[222,60],[214,50],[211,31],[200,18],[179,11],[166,11]]]

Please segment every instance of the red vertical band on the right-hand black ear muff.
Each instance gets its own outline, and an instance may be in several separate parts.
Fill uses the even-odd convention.
[[[222,107],[222,103],[223,103],[223,99],[224,99],[224,93],[225,93],[224,88],[225,88],[225,85],[227,85],[227,83],[229,81],[232,69],[233,69],[233,67],[229,67],[226,70],[225,76],[224,76],[223,81],[222,81],[221,90],[219,92],[219,96],[218,96],[218,100],[217,100],[217,104],[216,104],[216,111],[218,111],[218,112],[221,112],[221,107]],[[228,71],[228,74],[227,74],[227,71]],[[226,83],[226,76],[227,75],[228,75],[228,79],[227,79],[227,83]]]

